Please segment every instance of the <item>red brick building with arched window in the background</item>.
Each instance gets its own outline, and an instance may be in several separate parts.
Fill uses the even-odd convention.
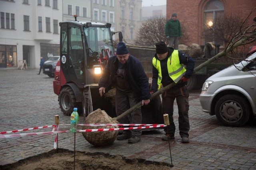
[[[246,17],[255,7],[256,0],[166,0],[166,20],[171,18],[172,13],[176,13],[178,20],[189,33],[188,44],[204,45],[208,42],[202,37],[205,24],[223,14],[239,14]],[[254,10],[249,21],[255,16]]]

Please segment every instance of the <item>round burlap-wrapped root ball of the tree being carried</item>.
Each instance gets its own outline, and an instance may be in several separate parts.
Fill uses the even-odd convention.
[[[85,119],[85,124],[117,124],[117,121],[106,113],[106,111],[97,109],[90,113]],[[118,128],[118,126],[83,126],[82,130],[85,129],[109,129]],[[102,147],[111,145],[116,140],[117,131],[96,131],[96,132],[82,132],[86,141],[96,147]]]

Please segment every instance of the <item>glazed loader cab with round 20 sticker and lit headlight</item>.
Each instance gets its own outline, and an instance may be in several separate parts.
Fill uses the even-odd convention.
[[[78,88],[98,83],[108,58],[114,54],[111,24],[60,23],[60,68],[66,83]]]

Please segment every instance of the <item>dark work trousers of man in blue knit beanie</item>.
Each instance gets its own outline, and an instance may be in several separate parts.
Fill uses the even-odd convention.
[[[130,107],[136,105],[139,102],[137,95],[132,92],[122,92],[116,90],[116,115],[121,115]],[[141,109],[134,110],[130,115],[120,121],[122,124],[141,124],[142,114]],[[142,132],[140,130],[126,130],[124,133],[140,136]]]

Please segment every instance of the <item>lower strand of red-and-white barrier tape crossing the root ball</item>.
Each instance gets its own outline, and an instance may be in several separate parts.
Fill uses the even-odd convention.
[[[156,127],[166,127],[166,125],[153,125],[153,126],[143,126],[143,127],[122,127],[122,128],[109,128],[109,129],[85,129],[85,130],[78,130],[77,132],[120,131],[120,130],[132,130],[132,129],[149,129],[149,128],[156,128]],[[35,136],[35,135],[50,135],[50,134],[66,133],[66,132],[69,132],[69,131],[52,131],[52,132],[0,135],[0,139],[11,138],[11,137]]]

